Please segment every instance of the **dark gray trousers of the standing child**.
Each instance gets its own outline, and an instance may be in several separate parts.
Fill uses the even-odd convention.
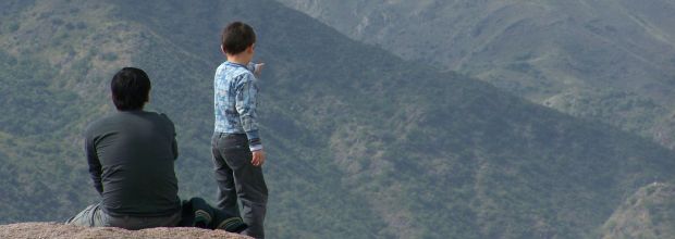
[[[253,155],[246,135],[216,133],[211,146],[218,183],[218,207],[230,215],[241,215],[248,225],[244,235],[265,238],[267,185],[262,167],[250,163]],[[242,202],[242,213],[237,199]]]

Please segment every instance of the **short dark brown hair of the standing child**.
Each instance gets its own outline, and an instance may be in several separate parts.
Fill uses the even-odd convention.
[[[234,22],[223,29],[221,40],[225,53],[238,54],[256,42],[256,33],[249,25]]]

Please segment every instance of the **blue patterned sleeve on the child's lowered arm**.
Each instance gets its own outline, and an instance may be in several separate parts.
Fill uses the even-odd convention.
[[[246,131],[248,138],[248,147],[250,151],[257,151],[262,149],[262,142],[258,135],[258,86],[256,85],[255,76],[251,74],[244,74],[242,79],[236,86],[236,111],[240,113],[240,120],[242,127]]]

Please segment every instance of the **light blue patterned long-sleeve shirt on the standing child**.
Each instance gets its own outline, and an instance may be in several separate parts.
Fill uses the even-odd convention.
[[[213,79],[216,133],[246,134],[250,151],[261,150],[258,136],[255,64],[224,62]]]

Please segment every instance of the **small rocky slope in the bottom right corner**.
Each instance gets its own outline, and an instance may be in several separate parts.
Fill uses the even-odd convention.
[[[602,238],[675,238],[675,187],[640,188],[602,227]]]

